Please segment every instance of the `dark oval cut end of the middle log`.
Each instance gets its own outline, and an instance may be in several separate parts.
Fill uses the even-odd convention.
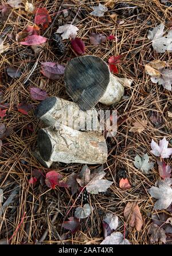
[[[51,110],[56,104],[56,97],[48,97],[46,100],[42,101],[36,111],[34,112],[37,118],[41,118],[44,114],[46,114],[49,110]]]

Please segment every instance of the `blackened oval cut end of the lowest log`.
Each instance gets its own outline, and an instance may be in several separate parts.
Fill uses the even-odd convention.
[[[38,131],[38,149],[41,157],[49,161],[52,154],[52,142],[49,135],[42,129]]]

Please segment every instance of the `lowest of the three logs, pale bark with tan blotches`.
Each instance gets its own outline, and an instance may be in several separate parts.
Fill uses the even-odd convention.
[[[108,155],[103,135],[59,123],[38,131],[38,149],[45,161],[62,163],[103,164]]]

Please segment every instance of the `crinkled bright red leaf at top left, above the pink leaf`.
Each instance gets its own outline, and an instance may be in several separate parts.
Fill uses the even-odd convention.
[[[49,23],[52,22],[52,19],[49,16],[48,10],[46,10],[45,7],[42,7],[42,8],[36,9],[34,13],[36,14],[34,18],[34,22],[37,25],[42,25],[44,29],[48,28]]]

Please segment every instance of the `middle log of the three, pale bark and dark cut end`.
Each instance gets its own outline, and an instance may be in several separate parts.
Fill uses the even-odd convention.
[[[45,126],[52,126],[58,121],[75,130],[87,130],[87,121],[92,123],[89,130],[93,130],[93,123],[99,124],[97,111],[92,108],[90,111],[82,111],[79,106],[71,101],[59,97],[48,97],[36,108],[35,115],[41,119]]]

